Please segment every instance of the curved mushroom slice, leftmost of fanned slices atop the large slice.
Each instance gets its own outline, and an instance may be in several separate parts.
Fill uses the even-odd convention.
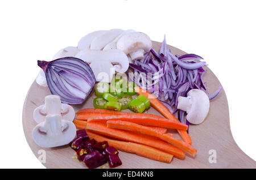
[[[94,31],[92,33],[89,33],[88,35],[85,35],[84,37],[81,38],[81,40],[77,44],[77,48],[79,50],[84,50],[84,49],[90,49],[90,44],[94,40],[94,38],[101,36],[105,33],[105,30],[102,31]]]

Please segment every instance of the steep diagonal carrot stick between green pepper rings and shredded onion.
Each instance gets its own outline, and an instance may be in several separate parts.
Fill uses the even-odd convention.
[[[156,98],[154,95],[152,95],[150,92],[146,91],[145,89],[142,89],[140,87],[135,87],[135,92],[137,92],[139,95],[144,95],[148,98],[148,100],[150,101],[150,105],[152,107],[154,107],[156,110],[158,110],[158,112],[160,112],[161,114],[163,114],[164,117],[168,118],[168,119],[172,119],[175,120],[177,122],[179,122],[179,120],[174,116],[174,114],[172,114],[170,112],[170,110],[168,108],[166,108],[165,105],[163,105],[162,102],[160,102],[158,100],[158,98]],[[184,130],[178,130],[181,138],[184,140],[184,142],[188,143],[188,144],[192,144],[191,138],[188,135],[187,131]]]

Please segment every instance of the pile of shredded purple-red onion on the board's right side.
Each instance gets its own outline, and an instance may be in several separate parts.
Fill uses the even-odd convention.
[[[196,54],[172,54],[171,49],[167,48],[166,37],[164,36],[158,53],[151,49],[144,55],[143,59],[134,61],[130,67],[135,72],[152,72],[151,82],[143,83],[143,88],[156,95],[159,100],[164,99],[163,104],[171,113],[175,113],[179,96],[187,96],[187,92],[191,89],[201,89],[208,93],[202,79],[206,72],[203,67],[207,65],[205,62],[201,62],[201,59],[203,58]],[[134,82],[142,87],[141,79],[137,82],[134,80]],[[220,91],[221,87],[209,95],[209,99],[216,97]],[[178,110],[178,117],[181,122],[188,125],[185,112]]]

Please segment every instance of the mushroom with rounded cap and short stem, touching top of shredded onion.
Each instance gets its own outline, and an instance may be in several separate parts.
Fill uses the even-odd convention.
[[[150,37],[142,32],[131,32],[122,36],[117,41],[117,49],[125,54],[130,54],[131,59],[142,59],[144,53],[152,48]]]

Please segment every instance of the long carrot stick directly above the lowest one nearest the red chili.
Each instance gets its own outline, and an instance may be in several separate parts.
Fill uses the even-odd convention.
[[[175,147],[174,145],[163,142],[162,140],[159,140],[153,136],[141,135],[131,131],[116,130],[113,128],[108,128],[105,123],[90,121],[87,122],[86,130],[114,139],[148,145],[150,147],[170,153],[179,159],[183,159],[185,157],[185,152],[181,149]]]

